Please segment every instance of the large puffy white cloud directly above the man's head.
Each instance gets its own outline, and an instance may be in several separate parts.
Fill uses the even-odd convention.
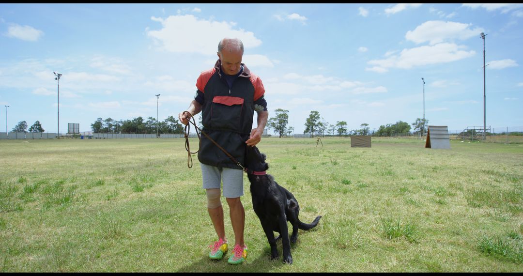
[[[235,22],[199,19],[193,15],[169,16],[166,19],[153,16],[151,20],[161,22],[162,29],[147,30],[147,36],[169,52],[215,55],[218,42],[224,37],[241,39],[245,48],[261,44],[253,32],[235,28]]]

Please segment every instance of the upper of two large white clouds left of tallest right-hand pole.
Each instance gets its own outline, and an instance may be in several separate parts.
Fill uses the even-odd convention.
[[[474,36],[479,37],[483,29],[470,29],[471,25],[452,21],[427,21],[413,31],[407,31],[405,39],[416,44],[429,41],[429,44],[434,45],[447,40],[465,40]]]

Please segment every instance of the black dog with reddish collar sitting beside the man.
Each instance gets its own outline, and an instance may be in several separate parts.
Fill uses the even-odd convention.
[[[269,168],[269,165],[265,163],[265,159],[265,154],[260,153],[257,147],[247,146],[245,167],[251,182],[253,208],[269,241],[270,259],[278,259],[276,240],[281,237],[283,262],[291,264],[291,245],[287,221],[292,224],[290,241],[295,243],[298,239],[298,228],[302,230],[312,229],[318,224],[322,216],[317,216],[311,224],[301,222],[298,218],[300,213],[298,201],[291,192],[279,186],[271,175],[266,174],[265,171]],[[274,232],[280,233],[280,236],[275,238]]]

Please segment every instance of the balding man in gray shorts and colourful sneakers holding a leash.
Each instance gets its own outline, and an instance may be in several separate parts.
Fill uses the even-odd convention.
[[[186,110],[190,115],[186,111],[178,114],[179,120],[187,124],[190,117],[201,111],[203,131],[242,164],[245,147],[260,142],[269,116],[263,83],[242,63],[243,52],[240,39],[222,39],[218,44],[218,61],[198,77],[195,99]],[[257,112],[256,129],[252,129],[254,111]],[[218,241],[210,246],[209,258],[223,258],[229,246],[220,199],[223,181],[223,196],[229,205],[235,239],[228,262],[240,264],[247,258],[243,237],[245,211],[240,200],[243,170],[204,136],[198,160],[207,194],[207,210],[218,235]]]

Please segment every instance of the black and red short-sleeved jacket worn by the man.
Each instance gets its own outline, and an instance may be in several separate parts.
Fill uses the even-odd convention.
[[[254,101],[263,97],[265,88],[261,79],[251,73],[245,64],[243,72],[231,88],[222,78],[220,60],[214,68],[198,77],[196,87],[203,93],[203,131],[222,146],[238,162],[244,164],[245,141],[253,127]],[[215,146],[207,137],[201,136],[198,159],[201,163],[233,169],[241,169]]]

